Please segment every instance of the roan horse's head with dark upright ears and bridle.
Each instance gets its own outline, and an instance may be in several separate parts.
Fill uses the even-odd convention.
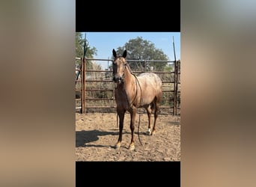
[[[122,56],[118,56],[115,52],[115,49],[113,49],[113,81],[116,83],[122,83],[124,82],[124,70],[127,66],[127,50],[124,50],[124,53]]]

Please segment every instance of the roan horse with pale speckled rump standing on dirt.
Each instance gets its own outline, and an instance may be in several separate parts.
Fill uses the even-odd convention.
[[[156,73],[141,73],[138,76],[132,73],[127,64],[127,50],[123,55],[117,55],[115,49],[112,50],[114,56],[113,62],[113,82],[116,83],[115,101],[117,104],[117,113],[119,117],[119,136],[115,148],[121,147],[122,132],[124,127],[124,114],[129,111],[131,141],[129,150],[134,150],[134,123],[137,108],[145,108],[148,117],[147,135],[153,135],[156,132],[156,119],[158,117],[159,102],[162,97],[162,81]],[[153,129],[151,132],[151,114],[154,113]]]

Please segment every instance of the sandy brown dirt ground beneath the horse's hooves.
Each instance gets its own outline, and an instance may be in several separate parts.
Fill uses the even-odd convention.
[[[76,161],[180,162],[180,116],[159,114],[156,133],[147,135],[147,114],[141,114],[139,129],[139,114],[137,114],[135,150],[128,149],[131,141],[129,120],[127,113],[124,117],[123,141],[121,148],[117,150],[115,149],[119,132],[117,114],[76,113]]]

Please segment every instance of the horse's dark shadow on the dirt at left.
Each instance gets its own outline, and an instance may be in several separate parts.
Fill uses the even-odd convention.
[[[126,132],[123,132],[123,134]],[[91,145],[93,141],[99,140],[99,136],[103,135],[117,135],[119,132],[106,132],[106,131],[99,131],[99,130],[89,130],[89,131],[76,131],[76,147],[106,147],[103,145]]]

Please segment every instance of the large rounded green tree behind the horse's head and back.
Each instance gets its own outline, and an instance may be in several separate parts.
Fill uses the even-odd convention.
[[[144,70],[145,61],[168,61],[168,56],[162,52],[162,49],[156,49],[154,44],[142,37],[129,40],[124,46],[118,47],[117,54],[122,55],[127,49],[127,60],[140,60],[129,62],[132,70]],[[153,67],[153,70],[162,71],[165,69],[167,62],[147,62],[147,70]],[[150,68],[151,67],[151,68]]]

